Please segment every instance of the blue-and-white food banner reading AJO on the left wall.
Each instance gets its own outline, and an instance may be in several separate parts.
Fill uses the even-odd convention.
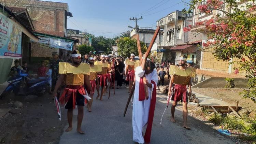
[[[7,15],[7,14],[6,14]],[[10,18],[0,12],[0,57],[22,57],[22,30]]]

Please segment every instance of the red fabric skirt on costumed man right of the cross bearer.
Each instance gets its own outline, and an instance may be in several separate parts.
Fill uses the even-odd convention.
[[[188,102],[188,97],[187,97],[187,86],[186,85],[178,85],[175,84],[174,86],[174,95],[171,98],[173,101],[183,101],[183,102]]]

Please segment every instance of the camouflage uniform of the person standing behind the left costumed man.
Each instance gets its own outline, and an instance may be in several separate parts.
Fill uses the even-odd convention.
[[[49,64],[50,68],[52,69],[52,88],[55,88],[56,82],[59,77],[59,62],[62,62],[63,60],[60,59],[52,59]]]

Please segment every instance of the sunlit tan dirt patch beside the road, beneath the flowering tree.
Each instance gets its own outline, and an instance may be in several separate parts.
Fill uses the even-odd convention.
[[[222,99],[232,106],[236,106],[237,101],[239,101],[240,106],[256,110],[256,104],[251,99],[243,99],[242,95],[239,95],[243,88],[192,88],[193,91],[215,99]]]

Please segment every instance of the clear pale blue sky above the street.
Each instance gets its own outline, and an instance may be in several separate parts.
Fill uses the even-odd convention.
[[[154,29],[156,21],[169,13],[187,8],[181,0],[47,0],[65,2],[73,17],[68,18],[68,29],[103,35],[113,38],[135,27],[135,21],[129,17],[141,16],[139,27]],[[187,1],[187,0],[185,0]],[[151,28],[152,27],[152,28]]]

